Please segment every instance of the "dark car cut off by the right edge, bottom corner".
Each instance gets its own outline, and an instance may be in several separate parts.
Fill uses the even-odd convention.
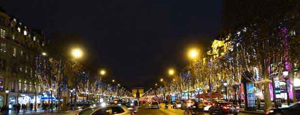
[[[285,108],[271,109],[269,115],[299,115],[300,102],[293,103]]]

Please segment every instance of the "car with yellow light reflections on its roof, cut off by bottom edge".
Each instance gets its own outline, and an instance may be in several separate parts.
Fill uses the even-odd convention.
[[[105,107],[90,107],[76,115],[132,115],[132,112],[118,105],[107,105]]]

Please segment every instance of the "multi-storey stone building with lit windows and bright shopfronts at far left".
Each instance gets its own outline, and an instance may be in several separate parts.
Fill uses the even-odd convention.
[[[0,107],[42,102],[43,88],[33,78],[35,57],[45,44],[42,31],[30,29],[0,7]]]

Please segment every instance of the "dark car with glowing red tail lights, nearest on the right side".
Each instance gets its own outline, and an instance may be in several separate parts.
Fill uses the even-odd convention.
[[[233,105],[231,102],[220,101],[215,103],[209,108],[209,114],[217,114],[217,115],[224,115],[224,114],[233,114],[238,115],[240,110],[237,106]]]

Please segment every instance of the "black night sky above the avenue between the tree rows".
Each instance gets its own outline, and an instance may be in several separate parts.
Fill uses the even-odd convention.
[[[187,48],[207,48],[222,16],[222,0],[1,0],[0,6],[53,43],[85,48],[83,62],[107,69],[109,79],[128,88],[153,86],[168,67],[186,65]]]

